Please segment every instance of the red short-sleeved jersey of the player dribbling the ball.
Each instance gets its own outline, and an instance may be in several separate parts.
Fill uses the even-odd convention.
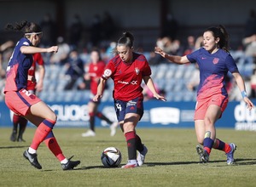
[[[127,64],[116,55],[110,59],[102,78],[113,79],[113,99],[129,101],[137,97],[143,97],[141,83],[143,77],[151,75],[148,60],[143,54],[133,53],[132,62]]]

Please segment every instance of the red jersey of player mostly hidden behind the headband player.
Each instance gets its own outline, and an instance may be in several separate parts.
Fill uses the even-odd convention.
[[[38,65],[44,65],[44,59],[42,54],[33,54],[33,63],[30,69],[28,70],[28,80],[26,90],[35,90],[37,82],[32,82],[31,77],[35,77],[35,72]]]

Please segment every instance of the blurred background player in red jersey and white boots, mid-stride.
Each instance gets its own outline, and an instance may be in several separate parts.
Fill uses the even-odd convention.
[[[97,111],[98,105],[100,105],[100,100],[98,102],[93,101],[94,96],[97,93],[97,86],[102,73],[105,69],[106,63],[101,59],[100,51],[93,49],[90,52],[91,62],[89,64],[89,71],[85,74],[86,79],[90,79],[90,101],[88,103],[88,113],[90,116],[90,129],[86,133],[82,133],[83,137],[95,136],[95,117],[99,117],[110,124],[110,135],[113,136],[116,133],[116,127],[118,122],[112,122],[107,116],[104,116],[102,112]]]

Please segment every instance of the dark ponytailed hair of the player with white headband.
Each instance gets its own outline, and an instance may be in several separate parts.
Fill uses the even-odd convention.
[[[23,20],[20,23],[7,24],[5,29],[9,31],[23,31],[25,35],[26,33],[42,32],[42,29],[40,26],[38,26],[38,24],[28,22],[26,20]]]

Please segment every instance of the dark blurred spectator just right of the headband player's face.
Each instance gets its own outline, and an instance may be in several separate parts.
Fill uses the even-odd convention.
[[[40,45],[49,47],[55,44],[56,41],[56,29],[55,22],[52,20],[50,14],[45,14],[43,20],[40,23],[44,37],[42,37]]]

